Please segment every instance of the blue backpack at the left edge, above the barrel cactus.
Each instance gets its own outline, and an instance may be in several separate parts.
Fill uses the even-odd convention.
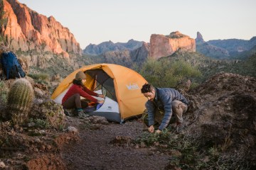
[[[6,79],[16,79],[26,76],[14,52],[3,52],[1,64],[6,74]]]

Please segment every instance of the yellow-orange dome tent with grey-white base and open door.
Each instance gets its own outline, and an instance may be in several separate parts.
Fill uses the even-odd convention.
[[[107,120],[122,123],[126,118],[143,113],[147,99],[140,89],[146,80],[132,69],[117,64],[92,64],[75,70],[55,89],[51,97],[55,102],[61,103],[79,71],[87,75],[85,86],[88,89],[106,96],[105,103],[90,115],[102,115]]]

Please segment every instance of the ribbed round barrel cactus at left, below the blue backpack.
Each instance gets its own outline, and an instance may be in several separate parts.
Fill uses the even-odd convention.
[[[7,106],[14,125],[21,125],[28,120],[28,112],[33,103],[34,92],[27,79],[17,79],[11,85]]]

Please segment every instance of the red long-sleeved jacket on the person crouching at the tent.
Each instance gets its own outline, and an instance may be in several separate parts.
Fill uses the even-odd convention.
[[[62,103],[64,103],[68,98],[70,98],[74,94],[80,94],[80,96],[97,103],[97,99],[92,97],[92,96],[97,96],[97,94],[95,92],[90,91],[86,87],[85,87],[85,89],[82,89],[82,86],[77,85],[77,84],[73,84],[72,86],[70,86],[70,89],[68,89],[67,93],[63,97]]]

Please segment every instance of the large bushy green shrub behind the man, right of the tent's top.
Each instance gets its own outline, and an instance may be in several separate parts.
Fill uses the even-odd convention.
[[[192,86],[197,84],[196,78],[201,77],[201,72],[183,60],[147,60],[138,71],[154,86],[176,87],[181,81],[190,79]]]

